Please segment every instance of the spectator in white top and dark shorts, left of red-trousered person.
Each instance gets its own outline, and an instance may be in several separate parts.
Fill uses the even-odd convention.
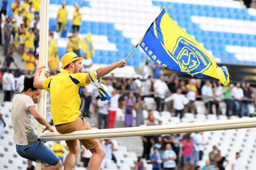
[[[104,121],[103,129],[106,129],[107,123],[108,123],[108,100],[101,101],[100,99],[98,99],[97,104],[99,107],[98,128],[102,129],[101,125],[102,125],[102,122]]]

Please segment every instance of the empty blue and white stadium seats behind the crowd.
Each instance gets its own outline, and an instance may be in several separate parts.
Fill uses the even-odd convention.
[[[8,3],[7,14],[12,15],[10,6],[13,0]],[[56,31],[56,15],[62,0],[50,0],[49,29]],[[256,59],[256,35],[255,10],[246,9],[240,1],[233,0],[90,0],[90,1],[65,1],[68,9],[68,35],[71,35],[74,3],[81,6],[82,24],[80,38],[92,33],[95,56],[93,62],[96,64],[110,64],[117,60],[124,59],[133,47],[140,41],[148,26],[156,18],[162,7],[183,28],[187,33],[201,43],[207,51],[212,54],[217,63],[254,65]],[[56,33],[55,33],[56,34]],[[56,34],[57,35],[57,34]],[[57,38],[59,56],[66,53],[67,39]],[[128,60],[127,70],[117,69],[114,73],[119,73],[120,77],[134,75],[134,67],[140,66],[146,55],[138,48]],[[97,65],[98,64],[98,65]],[[128,73],[127,73],[128,72]],[[155,108],[153,98],[145,98],[147,108]],[[185,113],[182,119],[172,116],[169,111],[158,112],[154,110],[154,117],[162,120],[163,124],[176,124],[187,122],[202,122],[228,119],[226,115],[205,115],[204,103],[196,101],[198,114]],[[221,105],[221,104],[220,104]],[[222,106],[220,106],[222,108]],[[13,144],[13,130],[10,117],[11,102],[5,102],[1,107],[7,127],[0,138],[0,170],[6,169],[26,169],[27,161],[17,155]],[[223,113],[225,111],[222,111]],[[135,112],[133,116],[135,117]],[[148,112],[143,110],[144,118],[148,117]],[[238,118],[231,116],[231,119]],[[117,111],[117,121],[124,121],[122,109]],[[144,125],[145,126],[146,121]],[[203,160],[199,162],[204,165],[208,160],[208,153],[213,145],[217,145],[222,155],[228,160],[233,160],[235,152],[240,151],[241,167],[244,169],[255,169],[256,162],[256,128],[233,129],[204,132],[203,136],[207,143],[204,150]],[[130,152],[126,146],[120,145],[117,140],[112,140],[115,146],[114,154],[117,164],[112,164],[111,169],[132,169],[137,161],[135,152]],[[51,146],[53,142],[47,142]],[[64,143],[63,143],[64,144]],[[248,147],[250,146],[250,147]],[[78,169],[81,166],[80,159],[77,159]],[[146,161],[144,163],[147,170],[152,169],[152,165]],[[229,164],[226,169],[231,169]]]

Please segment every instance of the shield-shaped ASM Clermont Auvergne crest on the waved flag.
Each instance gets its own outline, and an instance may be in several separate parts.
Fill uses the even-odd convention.
[[[196,44],[181,36],[178,38],[172,54],[177,57],[180,70],[191,75],[207,70],[212,64]],[[200,65],[203,67],[199,67]]]

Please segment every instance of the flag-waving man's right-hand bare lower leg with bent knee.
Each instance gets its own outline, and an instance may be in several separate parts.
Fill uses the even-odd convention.
[[[101,145],[97,146],[96,148],[90,149],[90,151],[92,152],[92,157],[90,158],[88,164],[88,170],[99,169],[100,164],[106,155],[106,152]]]

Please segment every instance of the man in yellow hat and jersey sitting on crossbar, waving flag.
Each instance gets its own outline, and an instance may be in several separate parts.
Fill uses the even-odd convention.
[[[43,81],[39,80],[39,74],[45,66],[37,66],[34,77],[34,87],[50,91],[51,111],[53,124],[59,133],[70,133],[77,130],[91,130],[91,126],[81,117],[81,89],[90,84],[90,78],[101,78],[116,68],[122,68],[126,62],[120,60],[109,66],[100,67],[90,73],[80,73],[83,69],[81,60],[74,52],[68,52],[61,58],[64,69],[61,73],[49,77]],[[89,78],[90,76],[90,78]],[[93,78],[93,81],[95,79]],[[95,83],[95,82],[94,82]],[[64,163],[65,170],[72,170],[75,159],[79,154],[77,140],[66,140],[69,153]],[[84,139],[80,142],[86,149],[92,152],[88,169],[99,169],[105,157],[105,151],[98,139]]]

